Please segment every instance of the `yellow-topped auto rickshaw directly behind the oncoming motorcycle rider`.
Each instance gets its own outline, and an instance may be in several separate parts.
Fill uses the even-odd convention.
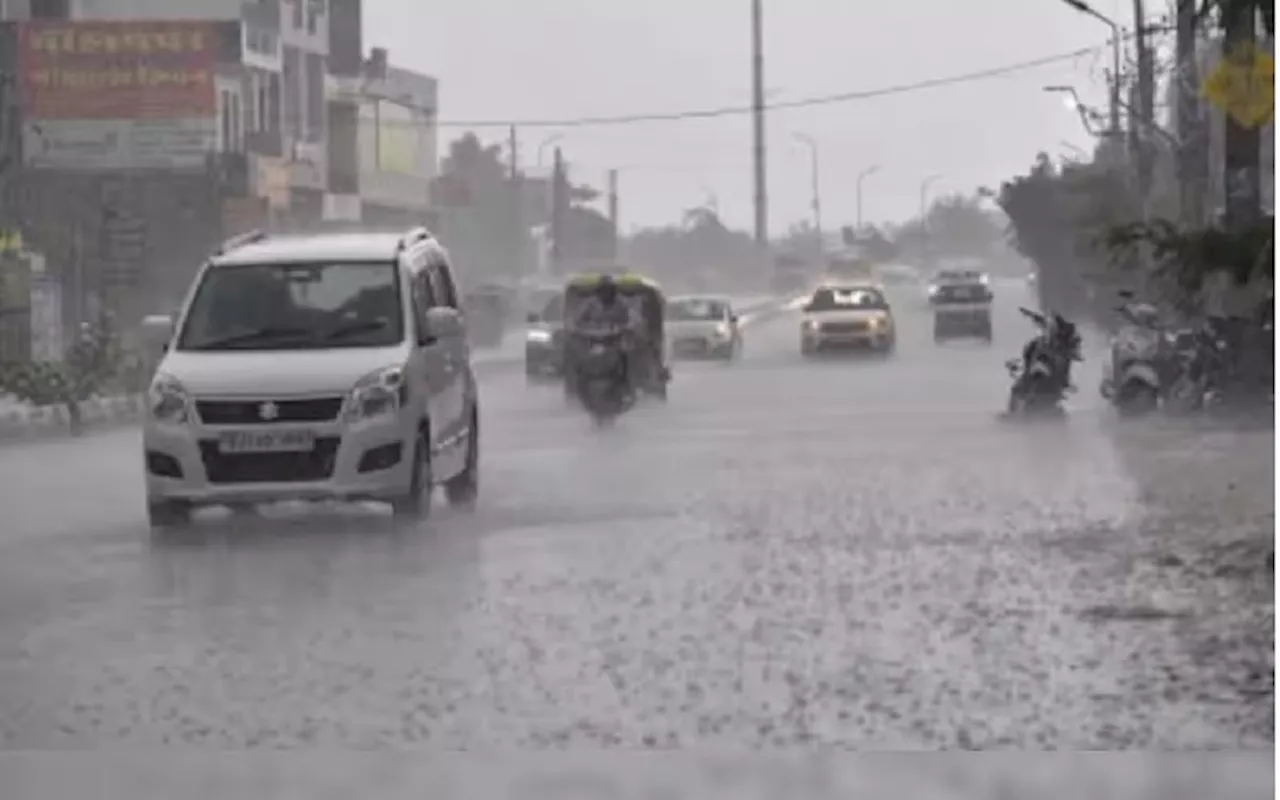
[[[667,298],[657,283],[631,273],[613,276],[621,302],[634,303],[644,321],[640,340],[632,352],[636,389],[659,399],[667,398],[671,370],[667,366],[667,334],[664,330]],[[600,274],[575,275],[564,285],[564,319],[572,320],[581,303],[595,296]],[[573,348],[564,348],[566,390],[573,380]]]

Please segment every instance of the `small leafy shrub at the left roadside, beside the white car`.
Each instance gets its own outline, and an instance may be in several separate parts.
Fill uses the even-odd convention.
[[[123,360],[109,317],[81,326],[60,361],[0,364],[0,392],[33,406],[63,406],[72,434],[83,430],[82,406],[115,378]]]

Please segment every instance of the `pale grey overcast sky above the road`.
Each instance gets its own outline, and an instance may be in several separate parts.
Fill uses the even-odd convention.
[[[618,115],[750,97],[748,0],[366,0],[365,8],[369,46],[440,79],[443,120]],[[1128,20],[1119,0],[1098,8]],[[873,90],[1101,46],[1107,35],[1060,0],[765,0],[765,82],[773,100]],[[1075,115],[1041,87],[1073,83],[1101,106],[1108,63],[1085,56],[965,86],[771,113],[771,227],[782,232],[809,214],[809,155],[794,132],[820,145],[829,227],[852,221],[855,175],[877,163],[883,172],[864,184],[865,216],[899,220],[916,212],[929,174],[943,175],[936,192],[972,191],[1024,170],[1038,150],[1064,152],[1064,140],[1088,147]],[[443,129],[442,148],[461,133]],[[750,223],[746,115],[527,128],[526,165],[556,133],[576,179],[603,184],[608,168],[621,170],[627,228],[675,221],[709,192],[730,223]]]

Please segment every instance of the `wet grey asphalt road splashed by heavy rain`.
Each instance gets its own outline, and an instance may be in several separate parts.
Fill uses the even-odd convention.
[[[1004,296],[992,348],[797,326],[612,430],[488,370],[481,507],[420,529],[151,541],[134,431],[0,451],[0,746],[1270,746],[1270,567],[1197,570],[1270,531],[1270,433],[1120,426],[1094,353],[997,422]]]

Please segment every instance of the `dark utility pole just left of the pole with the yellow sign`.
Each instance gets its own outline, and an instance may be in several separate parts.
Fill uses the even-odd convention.
[[[1178,212],[1183,225],[1204,223],[1208,187],[1208,129],[1199,97],[1199,54],[1196,47],[1197,0],[1178,0],[1175,74],[1178,102]]]

